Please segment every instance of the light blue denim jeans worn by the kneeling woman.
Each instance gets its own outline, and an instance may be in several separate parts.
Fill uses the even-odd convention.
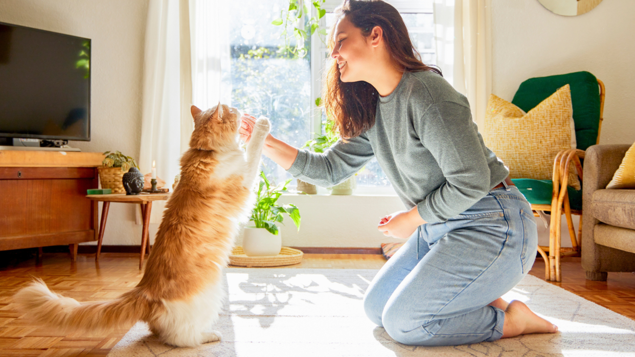
[[[516,186],[490,190],[462,214],[420,226],[377,273],[364,310],[403,344],[496,341],[505,314],[487,304],[528,273],[537,245],[533,213]]]

